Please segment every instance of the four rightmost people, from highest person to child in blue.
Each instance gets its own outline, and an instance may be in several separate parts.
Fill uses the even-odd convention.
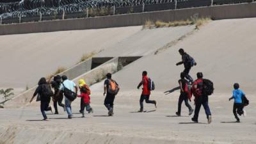
[[[176,65],[184,64],[184,71],[180,73],[179,87],[180,87],[180,97],[178,102],[178,111],[176,112],[177,116],[180,116],[181,105],[184,101],[189,110],[189,115],[193,114],[194,109],[191,108],[188,101],[191,101],[192,95],[195,97],[195,113],[191,120],[198,123],[198,115],[200,112],[201,106],[205,109],[205,114],[210,124],[212,122],[211,109],[209,108],[208,97],[213,93],[213,83],[208,79],[203,78],[202,72],[196,74],[197,79],[193,81],[193,78],[189,76],[189,71],[191,67],[196,65],[195,60],[187,54],[184,49],[179,49],[179,53],[182,56],[182,61]],[[239,84],[234,84],[234,90],[232,97],[229,100],[234,99],[233,113],[236,118],[236,122],[240,122],[237,114],[245,115],[244,106],[249,104],[248,99],[246,99],[245,94],[242,90],[239,89]]]

